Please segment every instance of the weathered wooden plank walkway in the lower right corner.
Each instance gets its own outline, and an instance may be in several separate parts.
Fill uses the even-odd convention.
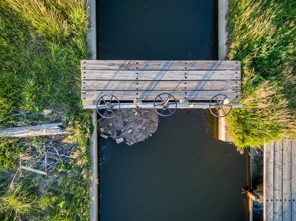
[[[264,144],[264,221],[296,221],[296,140]]]

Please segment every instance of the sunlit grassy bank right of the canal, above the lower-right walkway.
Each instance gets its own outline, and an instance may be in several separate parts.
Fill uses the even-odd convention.
[[[244,108],[227,117],[243,149],[296,137],[296,2],[230,0],[229,60],[242,61]]]

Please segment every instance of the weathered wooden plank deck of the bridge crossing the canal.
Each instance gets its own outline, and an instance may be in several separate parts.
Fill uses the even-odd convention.
[[[218,94],[237,100],[240,68],[240,61],[81,61],[81,99],[84,108],[95,108],[108,94],[131,103],[151,102],[161,93],[190,103]]]

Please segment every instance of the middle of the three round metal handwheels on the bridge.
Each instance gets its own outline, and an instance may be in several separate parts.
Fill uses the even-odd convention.
[[[161,102],[156,102],[158,97]],[[164,117],[174,114],[177,110],[176,98],[168,93],[162,93],[156,96],[153,105],[156,113]]]

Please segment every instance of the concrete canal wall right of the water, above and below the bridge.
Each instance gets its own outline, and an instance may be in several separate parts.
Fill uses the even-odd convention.
[[[227,59],[227,14],[229,10],[229,0],[218,0],[218,60]],[[225,118],[219,118],[214,120],[214,136],[219,140],[232,142],[228,132],[228,125]]]

